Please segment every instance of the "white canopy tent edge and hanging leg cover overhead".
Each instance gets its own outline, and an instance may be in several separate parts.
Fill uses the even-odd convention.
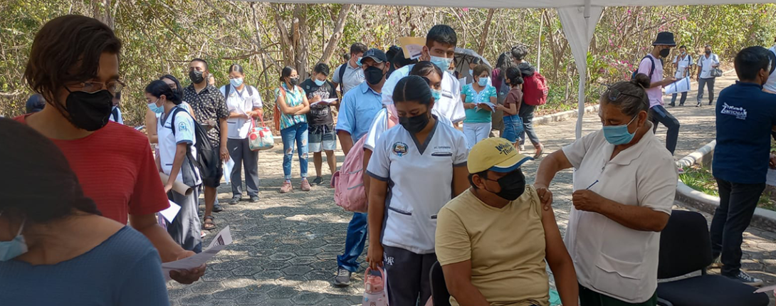
[[[252,0],[244,0],[252,1]],[[350,3],[363,5],[409,5],[430,7],[465,7],[483,9],[555,8],[563,25],[563,33],[569,41],[577,71],[580,71],[579,116],[577,138],[582,135],[584,116],[584,88],[587,78],[587,50],[590,47],[595,26],[606,6],[661,6],[661,5],[723,5],[747,3],[771,3],[774,0],[280,0],[284,3]]]

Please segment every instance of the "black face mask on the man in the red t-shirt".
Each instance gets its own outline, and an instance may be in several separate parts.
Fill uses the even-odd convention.
[[[110,112],[113,110],[113,94],[104,89],[94,93],[70,92],[65,106],[68,110],[68,121],[74,127],[91,132],[108,124]]]

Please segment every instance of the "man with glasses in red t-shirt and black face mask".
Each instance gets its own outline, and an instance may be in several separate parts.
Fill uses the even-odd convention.
[[[140,231],[162,262],[184,259],[195,253],[182,249],[158,224],[156,213],[169,203],[147,137],[108,120],[113,96],[123,88],[120,51],[116,34],[97,19],[51,19],[36,34],[25,70],[26,83],[48,105],[16,120],[57,145],[103,216]],[[204,272],[201,266],[170,276],[192,283]]]

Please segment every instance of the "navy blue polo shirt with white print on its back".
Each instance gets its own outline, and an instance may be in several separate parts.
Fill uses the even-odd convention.
[[[776,95],[754,83],[736,82],[719,92],[714,176],[731,183],[765,183],[776,125]]]

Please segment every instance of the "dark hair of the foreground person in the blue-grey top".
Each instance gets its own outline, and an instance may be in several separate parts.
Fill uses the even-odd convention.
[[[14,120],[0,118],[0,212],[4,217],[47,223],[77,211],[100,214],[84,196],[68,160],[47,137]]]

